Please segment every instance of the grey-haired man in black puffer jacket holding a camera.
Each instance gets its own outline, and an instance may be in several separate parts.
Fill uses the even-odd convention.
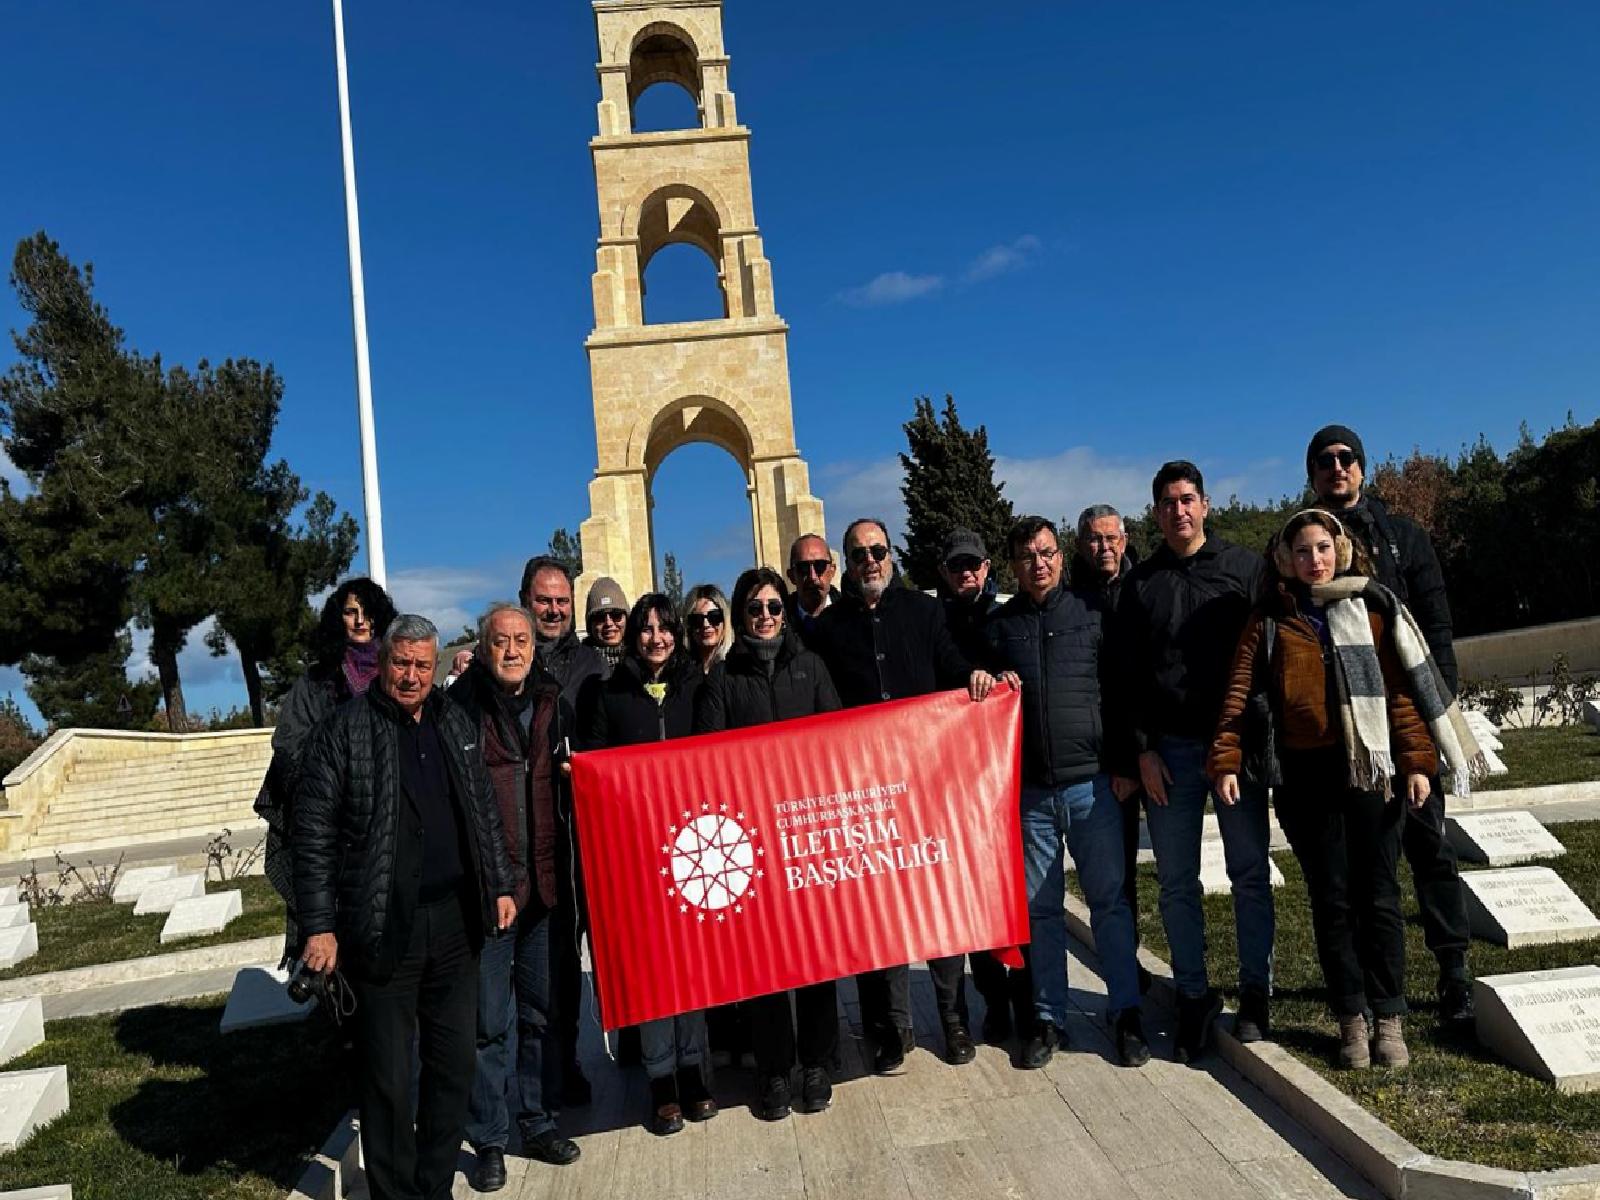
[[[517,917],[480,734],[432,691],[437,653],[430,621],[397,616],[378,686],[317,728],[296,792],[302,960],[310,971],[342,968],[355,989],[374,1200],[450,1195],[475,1062],[478,954]]]

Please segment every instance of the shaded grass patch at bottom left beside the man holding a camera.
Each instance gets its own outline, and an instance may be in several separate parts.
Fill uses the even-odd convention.
[[[6,1070],[67,1067],[72,1107],[0,1158],[0,1189],[70,1182],[77,1200],[280,1200],[354,1104],[314,1016],[222,1037],[203,1000],[51,1021]]]

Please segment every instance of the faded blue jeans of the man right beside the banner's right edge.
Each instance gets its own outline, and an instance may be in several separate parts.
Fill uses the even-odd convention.
[[[1034,1010],[1067,1024],[1067,918],[1062,846],[1072,851],[1106,976],[1107,1014],[1139,1006],[1133,909],[1122,890],[1122,806],[1104,774],[1064,787],[1022,784],[1022,872],[1027,880]]]

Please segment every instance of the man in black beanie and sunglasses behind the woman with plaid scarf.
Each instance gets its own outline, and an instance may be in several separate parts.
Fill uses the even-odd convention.
[[[1350,536],[1366,547],[1373,574],[1400,597],[1422,629],[1427,650],[1450,691],[1456,691],[1456,646],[1450,598],[1434,542],[1421,525],[1389,512],[1362,491],[1366,448],[1354,429],[1325,426],[1306,446],[1306,477],[1317,499],[1339,515]],[[1467,901],[1456,851],[1445,837],[1445,789],[1438,779],[1421,808],[1406,806],[1400,846],[1411,864],[1427,949],[1438,960],[1440,1014],[1472,1022],[1472,973],[1467,970]]]

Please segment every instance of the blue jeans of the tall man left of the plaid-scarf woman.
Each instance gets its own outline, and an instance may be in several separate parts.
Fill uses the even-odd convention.
[[[1187,738],[1162,738],[1157,750],[1173,781],[1166,803],[1146,798],[1155,874],[1162,880],[1162,925],[1173,954],[1173,982],[1186,997],[1205,995],[1205,910],[1200,906],[1200,837],[1211,781],[1205,747]],[[1238,803],[1216,805],[1227,878],[1234,885],[1240,987],[1272,989],[1272,859],[1267,856],[1267,792],[1238,781]]]

